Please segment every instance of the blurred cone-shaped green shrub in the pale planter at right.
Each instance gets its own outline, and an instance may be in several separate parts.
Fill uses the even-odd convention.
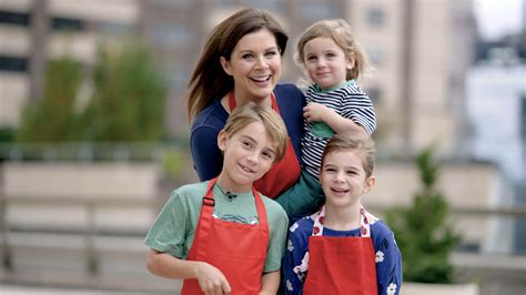
[[[454,267],[449,253],[459,236],[448,223],[449,207],[435,187],[439,166],[433,160],[433,149],[426,149],[415,160],[422,189],[409,207],[386,212],[386,221],[395,232],[403,255],[404,279],[419,283],[452,283]]]

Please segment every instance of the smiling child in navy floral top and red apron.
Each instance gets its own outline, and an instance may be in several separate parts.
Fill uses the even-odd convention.
[[[393,232],[366,212],[362,195],[376,179],[374,143],[336,134],[325,146],[320,181],[325,205],[290,228],[286,294],[398,294],[402,256]]]

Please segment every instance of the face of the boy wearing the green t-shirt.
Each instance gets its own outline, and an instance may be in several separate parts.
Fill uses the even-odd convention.
[[[218,182],[232,192],[250,192],[252,183],[271,169],[276,157],[275,143],[260,121],[247,124],[230,138],[221,131],[218,145],[224,153]]]

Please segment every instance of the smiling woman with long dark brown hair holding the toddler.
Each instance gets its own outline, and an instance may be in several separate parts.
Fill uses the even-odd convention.
[[[305,98],[293,84],[277,84],[287,40],[271,14],[252,8],[235,12],[212,30],[189,83],[190,144],[201,181],[221,172],[218,134],[230,113],[247,102],[273,108],[290,136],[284,159],[255,187],[274,199],[299,179]]]

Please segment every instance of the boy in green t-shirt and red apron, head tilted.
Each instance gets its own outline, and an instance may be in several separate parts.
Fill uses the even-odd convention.
[[[270,108],[247,103],[218,136],[216,179],[172,193],[145,238],[146,266],[184,279],[181,294],[275,294],[287,216],[253,183],[283,159],[286,128]]]

